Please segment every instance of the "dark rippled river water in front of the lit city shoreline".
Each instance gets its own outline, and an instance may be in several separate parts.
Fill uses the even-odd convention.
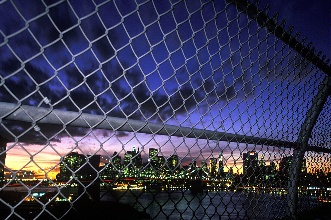
[[[194,195],[180,190],[121,190],[107,192],[101,200],[117,201],[116,197],[139,211],[145,207],[155,219],[271,219],[283,216],[286,206],[285,195],[233,191]]]

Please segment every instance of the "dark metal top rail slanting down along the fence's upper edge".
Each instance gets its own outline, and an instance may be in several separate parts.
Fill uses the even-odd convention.
[[[254,19],[260,26],[266,27],[268,31],[295,49],[300,55],[305,57],[313,65],[318,67],[327,75],[331,76],[331,67],[328,66],[322,59],[314,54],[314,52],[305,47],[296,37],[284,30],[281,25],[276,24],[272,18],[269,18],[262,11],[260,11],[253,3],[248,0],[227,0],[229,3],[235,5],[240,11],[244,12],[250,18]]]

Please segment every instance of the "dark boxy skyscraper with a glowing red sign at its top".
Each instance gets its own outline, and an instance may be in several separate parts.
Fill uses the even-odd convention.
[[[256,185],[257,177],[259,176],[258,168],[259,160],[258,154],[255,151],[243,153],[243,167],[244,167],[244,184]]]

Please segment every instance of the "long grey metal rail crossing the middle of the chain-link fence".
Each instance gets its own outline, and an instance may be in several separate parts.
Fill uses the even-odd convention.
[[[175,137],[198,138],[242,144],[256,144],[280,148],[297,148],[296,142],[254,137],[227,132],[182,127],[162,123],[125,119],[119,117],[56,110],[35,106],[0,102],[1,119],[37,122],[43,124],[68,125],[85,128],[99,128],[145,134],[157,134]],[[11,112],[11,113],[8,113]],[[308,146],[308,151],[331,153],[331,149]]]

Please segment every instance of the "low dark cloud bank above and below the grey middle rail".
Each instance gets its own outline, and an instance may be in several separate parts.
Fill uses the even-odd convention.
[[[15,60],[7,61],[3,63],[4,65],[2,66],[2,70],[4,71],[15,70],[16,67],[12,68],[12,66],[8,64],[10,62],[16,64],[16,67],[19,67],[19,62],[15,62]],[[26,69],[28,70],[28,72],[34,73],[34,77],[36,77],[37,80],[40,80],[38,82],[43,82],[48,79],[46,73],[44,73],[42,70],[40,70],[39,68],[33,65],[30,64],[27,65]],[[90,71],[91,70],[87,70],[87,72]],[[68,68],[68,72],[70,72],[70,74],[67,75],[69,89],[74,88],[77,85],[79,85],[81,82],[83,82],[84,77],[75,68]],[[35,84],[29,81],[29,77],[23,73],[21,75],[20,77],[13,76],[7,79],[5,82],[5,84],[9,88],[13,88],[11,89],[11,91],[19,98],[22,98],[26,96],[26,94],[29,94],[31,91],[35,90]],[[40,77],[38,78],[37,75],[39,75]],[[142,80],[142,77],[140,77],[139,72],[134,72],[134,71],[126,72],[125,77],[132,85],[139,84]],[[94,73],[93,75],[87,77],[87,79],[88,79],[88,85],[90,86],[91,90],[93,90],[96,94],[102,92],[104,89],[107,89],[109,86],[108,82],[104,79],[104,76],[100,72]],[[127,94],[131,92],[128,88],[120,86],[119,82],[113,83],[111,88],[113,89],[113,91],[116,92],[116,94],[119,97],[125,97]],[[1,87],[1,89],[4,88]],[[61,98],[67,95],[65,90],[61,90],[57,92],[52,90],[51,84],[44,85],[44,87],[41,87],[40,90],[42,90],[43,94],[45,95],[47,94],[47,96],[52,99],[52,103],[55,103],[57,100],[60,100]],[[189,84],[182,86],[178,91],[176,90],[177,89],[174,89],[173,91],[174,94],[170,97],[169,100],[167,95],[161,94],[158,91],[154,92],[153,96],[151,97],[151,93],[149,92],[145,83],[141,83],[138,87],[133,89],[131,95],[129,95],[127,98],[125,98],[120,102],[119,106],[121,107],[121,109],[118,107],[112,110],[111,112],[109,112],[108,115],[116,116],[116,117],[125,117],[123,112],[126,115],[129,115],[133,111],[137,110],[140,104],[140,110],[145,115],[145,117],[151,116],[159,108],[159,113],[164,120],[170,115],[172,115],[173,110],[176,110],[177,114],[186,114],[187,111],[191,110],[192,108],[195,108],[197,102],[201,101],[204,97],[199,93],[193,95],[193,89],[192,87],[190,87]],[[31,105],[31,102],[34,101],[34,104],[36,105],[37,103],[39,103],[40,97],[38,101],[34,100],[35,98],[36,96],[31,96],[28,99],[26,99],[26,102],[29,101],[29,105]],[[71,91],[70,98],[71,99],[66,98],[57,105],[55,105],[55,109],[77,111],[78,109],[75,106],[77,105],[78,108],[80,109],[84,108],[83,112],[85,113],[102,115],[103,114],[102,111],[95,104],[95,102],[98,102],[101,108],[105,111],[108,111],[111,108],[118,105],[117,99],[115,99],[114,95],[110,91],[107,91],[107,95],[99,96],[95,100],[94,95],[92,95],[91,91],[89,91],[88,87],[85,84],[82,84],[78,88]],[[12,102],[15,103],[15,100],[11,99],[10,95],[7,96],[1,95],[1,101],[9,102],[9,100],[12,100]],[[71,100],[74,102],[75,105],[72,103]],[[183,103],[184,100],[185,100],[185,104]],[[85,108],[86,106],[88,107]],[[132,114],[130,118],[143,119],[143,116],[138,111]],[[160,118],[156,118],[156,120],[160,120]],[[17,136],[22,134],[29,127],[31,127],[31,123],[14,122],[14,121],[6,121],[5,125],[8,127],[9,130],[11,130]],[[44,135],[46,135],[47,138],[54,136],[57,132],[59,132],[62,129],[62,126],[56,126],[56,125],[40,124],[39,127],[41,129],[41,132]],[[70,133],[71,136],[75,137],[75,136],[84,136],[89,132],[89,129],[68,126],[67,131]],[[104,137],[110,136],[111,134],[109,132],[110,131],[103,131],[102,135]],[[117,135],[119,137],[123,137],[123,136],[127,136],[128,133],[117,132]],[[60,142],[62,137],[67,137],[67,136],[68,134],[65,131],[62,131],[60,134],[56,135],[56,137],[53,138],[51,141]],[[33,129],[31,129],[29,132],[27,132],[22,137],[20,137],[19,141],[25,144],[37,144],[37,145],[46,144],[46,139],[38,132],[34,131]]]

